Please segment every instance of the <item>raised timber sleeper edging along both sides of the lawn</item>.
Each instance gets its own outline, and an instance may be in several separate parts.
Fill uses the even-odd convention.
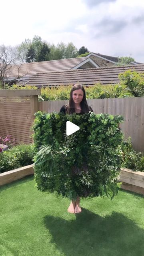
[[[34,174],[33,167],[34,164],[30,164],[12,171],[1,173],[0,186]],[[122,189],[144,195],[144,172],[134,172],[127,168],[121,168],[121,173],[118,180],[122,182]]]

